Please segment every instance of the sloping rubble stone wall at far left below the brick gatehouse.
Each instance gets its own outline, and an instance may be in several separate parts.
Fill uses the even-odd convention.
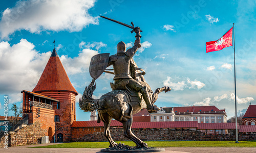
[[[8,135],[8,146],[29,145],[40,143],[41,137],[46,136],[47,130],[41,129],[39,121],[18,129]],[[4,147],[5,137],[0,140],[0,147]]]

